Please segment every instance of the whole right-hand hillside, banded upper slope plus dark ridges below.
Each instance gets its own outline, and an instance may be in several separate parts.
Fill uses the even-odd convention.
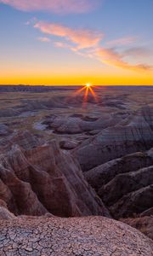
[[[73,151],[114,218],[139,216],[153,207],[152,116],[153,108],[144,107]]]

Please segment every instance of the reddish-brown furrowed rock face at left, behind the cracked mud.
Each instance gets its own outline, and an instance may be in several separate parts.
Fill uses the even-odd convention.
[[[110,217],[77,160],[63,153],[55,141],[42,144],[23,132],[1,146],[1,153],[0,199],[15,215]]]

